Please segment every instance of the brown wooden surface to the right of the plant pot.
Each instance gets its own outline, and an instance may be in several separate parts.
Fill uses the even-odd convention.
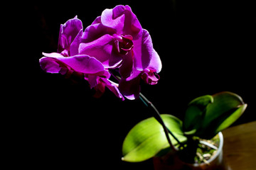
[[[256,169],[256,121],[223,131],[223,157],[228,170]]]

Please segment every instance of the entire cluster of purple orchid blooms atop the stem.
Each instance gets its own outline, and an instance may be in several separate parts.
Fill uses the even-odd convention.
[[[105,9],[82,31],[82,22],[75,18],[60,25],[57,52],[43,53],[41,68],[50,73],[80,75],[95,97],[105,87],[124,100],[139,96],[140,79],[157,84],[161,60],[153,48],[149,32],[142,28],[129,6]],[[118,69],[119,84],[110,81],[110,69]]]

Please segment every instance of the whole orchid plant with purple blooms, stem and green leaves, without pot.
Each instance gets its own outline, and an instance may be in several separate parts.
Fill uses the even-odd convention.
[[[141,79],[157,84],[161,60],[149,32],[129,6],[105,9],[85,30],[77,16],[71,18],[60,25],[57,52],[43,55],[39,62],[45,72],[85,79],[97,98],[107,87],[121,100],[140,98],[152,109],[153,118],[135,125],[124,140],[122,159],[127,162],[141,162],[163,150],[178,152],[193,137],[210,139],[247,106],[240,96],[223,92],[191,101],[183,121],[160,115],[140,93],[139,84]]]

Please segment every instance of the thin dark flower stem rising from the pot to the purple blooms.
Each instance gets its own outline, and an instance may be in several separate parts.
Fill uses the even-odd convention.
[[[171,130],[169,130],[168,128],[166,128],[166,125],[164,124],[164,120],[161,118],[161,115],[159,113],[159,111],[157,111],[156,107],[154,106],[153,103],[151,103],[151,101],[149,101],[142,93],[139,93],[139,98],[141,99],[141,101],[149,108],[149,106],[151,108],[154,109],[154,118],[162,125],[162,127],[164,128],[164,133],[166,135],[166,138],[169,142],[169,145],[171,146],[172,149],[177,150],[176,147],[174,147],[174,145],[171,143],[171,139],[169,137],[169,133],[171,134],[172,137],[174,137],[174,139],[181,144],[181,142],[178,141],[178,139],[174,136],[174,134],[171,132]]]

